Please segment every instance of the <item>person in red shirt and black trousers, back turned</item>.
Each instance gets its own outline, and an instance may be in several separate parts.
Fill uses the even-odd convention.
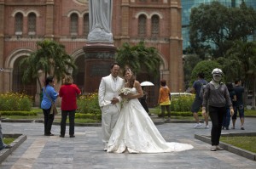
[[[69,117],[69,137],[74,138],[74,116],[77,110],[77,96],[81,93],[79,87],[73,84],[72,76],[65,76],[60,88],[61,99],[61,138],[65,137],[67,115]]]

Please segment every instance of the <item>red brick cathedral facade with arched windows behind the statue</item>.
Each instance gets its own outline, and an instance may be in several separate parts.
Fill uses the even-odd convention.
[[[137,76],[139,82],[154,83],[154,87],[148,87],[150,106],[157,104],[160,79],[166,79],[172,92],[184,89],[181,10],[180,0],[113,0],[114,46],[143,40],[146,46],[159,51],[159,76],[149,75],[147,70]],[[74,82],[83,90],[88,0],[0,0],[0,23],[0,93],[22,91],[39,103],[37,81],[22,84],[19,64],[44,38],[66,46],[67,54],[79,68]]]

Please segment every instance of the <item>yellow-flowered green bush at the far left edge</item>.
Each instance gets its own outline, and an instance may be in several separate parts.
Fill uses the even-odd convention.
[[[1,111],[30,111],[32,99],[23,93],[1,93]]]

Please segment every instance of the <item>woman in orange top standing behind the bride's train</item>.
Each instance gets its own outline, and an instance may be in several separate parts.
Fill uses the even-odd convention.
[[[170,94],[170,89],[169,87],[166,86],[166,80],[161,80],[160,90],[159,90],[159,99],[158,99],[158,103],[161,106],[160,117],[163,117],[165,119],[165,110],[167,110],[168,118],[169,118],[168,120],[170,120],[170,117],[171,117],[171,110],[170,110],[171,100],[170,100],[169,94]]]

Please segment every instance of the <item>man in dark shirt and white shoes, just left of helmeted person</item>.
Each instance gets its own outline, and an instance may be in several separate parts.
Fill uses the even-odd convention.
[[[202,85],[206,85],[207,84],[207,81],[204,79],[205,78],[205,75],[204,73],[200,72],[198,73],[198,80],[196,80],[194,83],[193,83],[193,86],[191,88],[191,93],[195,93],[195,100],[192,104],[192,107],[191,107],[191,112],[193,113],[193,116],[195,118],[195,126],[194,128],[198,128],[198,127],[201,127],[201,122],[199,121],[199,118],[198,118],[198,111],[201,109],[201,104],[202,104],[202,99],[199,97],[200,95],[200,90],[201,90],[201,87]],[[208,126],[208,114],[206,114],[204,116],[205,118],[205,121],[206,121],[206,129],[209,128]]]

